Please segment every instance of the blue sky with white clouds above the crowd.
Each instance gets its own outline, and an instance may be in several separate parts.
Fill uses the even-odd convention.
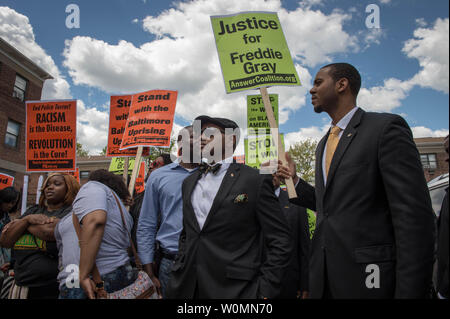
[[[65,25],[71,3],[80,8],[78,29]],[[380,10],[379,29],[366,26],[369,4]],[[321,66],[342,61],[362,75],[359,106],[401,114],[416,137],[445,136],[448,6],[447,0],[3,0],[0,36],[55,77],[43,99],[79,100],[78,140],[92,154],[106,145],[110,95],[178,90],[175,131],[201,114],[245,125],[245,96],[257,92],[225,94],[209,16],[252,10],[278,13],[303,82],[269,88],[279,94],[287,145],[328,129],[328,116],[313,112],[308,91]]]

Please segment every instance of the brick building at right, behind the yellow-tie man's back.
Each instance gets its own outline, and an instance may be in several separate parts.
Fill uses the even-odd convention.
[[[420,160],[427,182],[439,175],[448,173],[447,153],[444,147],[445,137],[415,138]]]

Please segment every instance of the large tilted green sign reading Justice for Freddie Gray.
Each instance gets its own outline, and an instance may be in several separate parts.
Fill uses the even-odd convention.
[[[227,93],[301,85],[275,12],[212,16]]]

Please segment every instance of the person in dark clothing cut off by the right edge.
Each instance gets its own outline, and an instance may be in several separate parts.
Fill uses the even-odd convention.
[[[447,152],[448,163],[448,135],[445,138],[445,151]],[[438,242],[437,242],[437,271],[435,290],[440,299],[448,299],[450,294],[448,291],[449,283],[449,224],[448,224],[448,187],[445,190],[444,200],[442,201],[441,212],[439,213],[438,222]]]

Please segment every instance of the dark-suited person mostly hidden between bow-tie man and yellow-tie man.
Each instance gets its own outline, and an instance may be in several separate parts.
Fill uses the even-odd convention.
[[[275,195],[278,196],[281,210],[288,221],[291,230],[293,251],[289,266],[281,282],[279,298],[292,299],[308,297],[308,263],[309,263],[309,225],[306,208],[289,202],[286,191],[280,188],[280,179],[273,177]]]

